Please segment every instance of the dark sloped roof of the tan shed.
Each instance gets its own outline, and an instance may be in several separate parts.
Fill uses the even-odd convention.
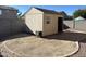
[[[35,7],[33,7],[33,8],[35,8]],[[60,14],[60,15],[62,15],[60,12],[57,12],[57,11],[53,11],[53,10],[47,10],[47,9],[41,9],[41,8],[35,8],[35,9],[37,9],[37,10],[44,12],[44,13]],[[32,8],[29,10],[32,10]],[[29,12],[29,10],[26,11],[22,16],[24,16],[27,12]]]

